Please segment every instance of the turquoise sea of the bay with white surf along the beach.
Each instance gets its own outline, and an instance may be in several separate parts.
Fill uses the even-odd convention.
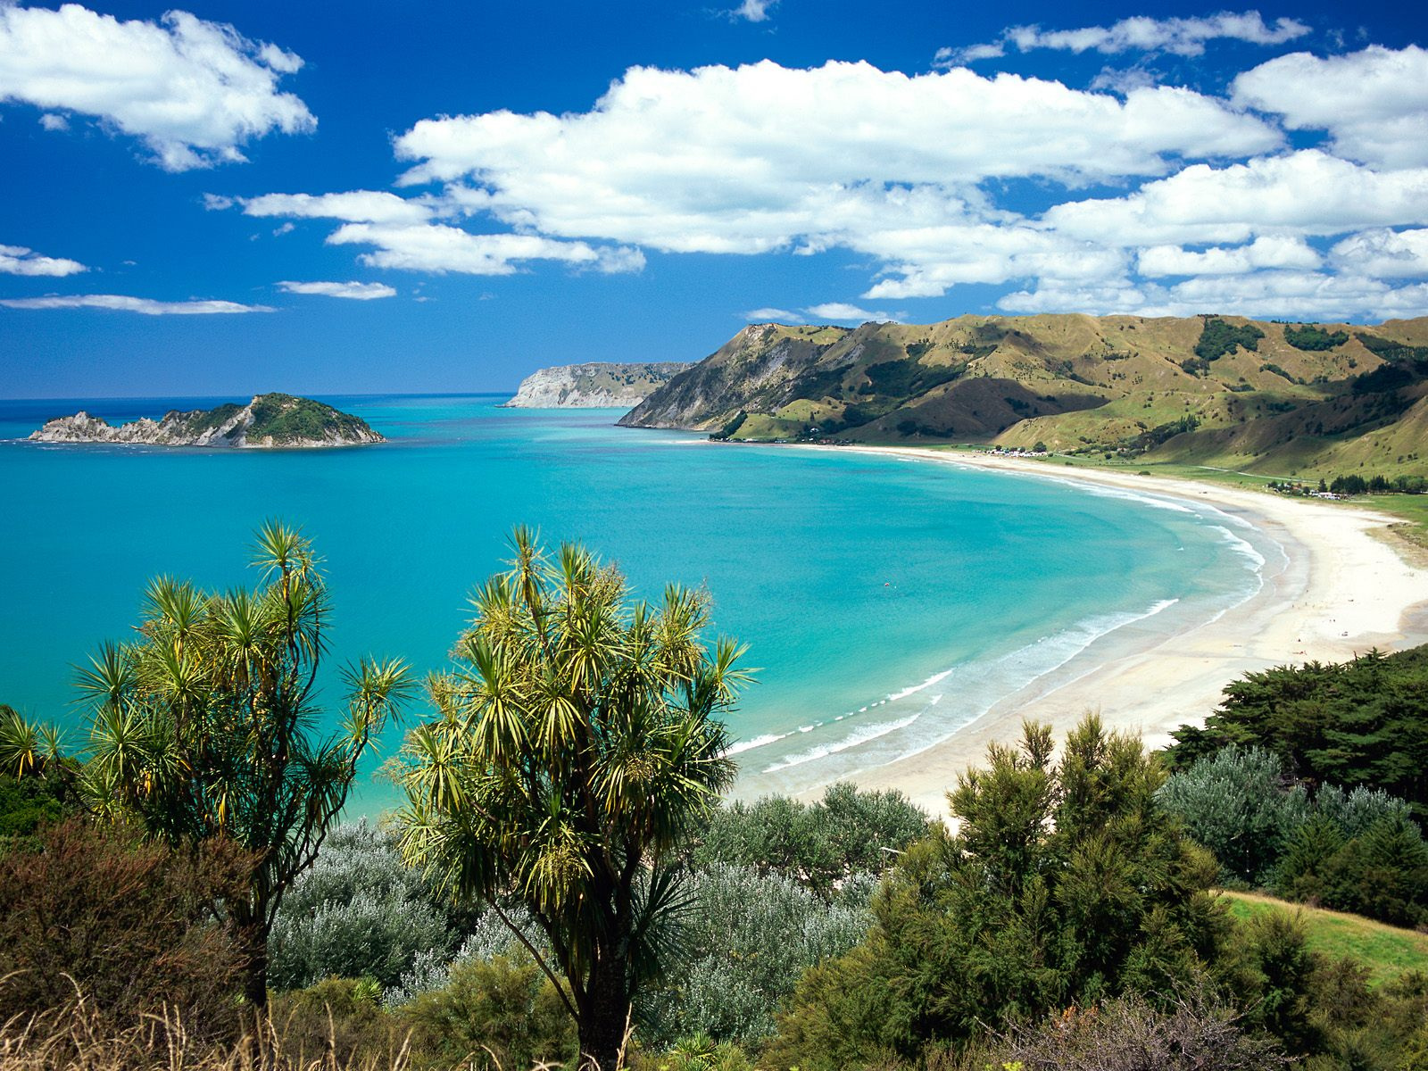
[[[0,401],[0,703],[79,743],[73,665],[129,634],[153,575],[253,583],[247,545],[268,517],[324,558],[334,668],[367,653],[441,668],[471,588],[530,524],[618,561],[643,595],[705,585],[715,631],[747,643],[757,670],[730,717],[737,791],[803,791],[915,754],[1077,658],[1222,613],[1278,553],[1207,506],[710,444],[504,397],[324,397],[390,444],[286,451],[21,441],[79,408],[114,423],[236,398]],[[334,680],[324,695],[336,718]],[[376,768],[400,731],[354,813],[394,803]]]

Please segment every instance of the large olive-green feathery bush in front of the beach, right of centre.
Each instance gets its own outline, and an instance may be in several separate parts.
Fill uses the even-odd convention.
[[[771,1055],[811,1071],[911,1058],[985,1025],[1122,992],[1170,992],[1224,930],[1215,867],[1155,807],[1164,774],[1138,740],[1088,717],[1052,764],[1051,733],[950,794],[958,833],[902,855],[875,925],[808,971]]]

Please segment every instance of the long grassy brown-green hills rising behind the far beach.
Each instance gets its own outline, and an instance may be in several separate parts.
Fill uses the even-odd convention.
[[[1428,473],[1428,318],[962,316],[753,324],[624,427],[740,441],[990,443],[1262,473]]]

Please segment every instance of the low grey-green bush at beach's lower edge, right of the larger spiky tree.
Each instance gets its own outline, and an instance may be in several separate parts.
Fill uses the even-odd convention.
[[[721,807],[691,853],[691,863],[753,867],[830,895],[851,874],[881,874],[927,830],[927,814],[901,793],[860,791],[840,783],[824,790],[823,800],[814,804],[770,795],[754,804],[734,801]]]

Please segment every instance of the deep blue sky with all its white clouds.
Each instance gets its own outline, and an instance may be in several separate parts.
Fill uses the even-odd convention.
[[[1428,316],[1425,46],[1375,0],[0,0],[0,397]]]

